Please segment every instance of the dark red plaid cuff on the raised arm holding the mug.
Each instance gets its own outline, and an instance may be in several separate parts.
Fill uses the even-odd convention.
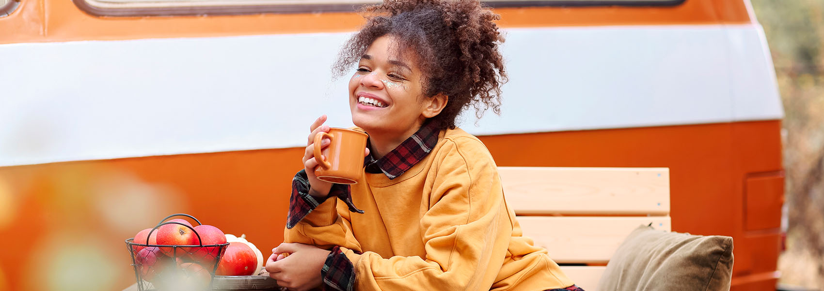
[[[352,195],[349,192],[349,185],[332,184],[329,191],[329,196],[316,197],[309,195],[309,179],[307,178],[306,170],[300,170],[292,179],[292,196],[289,198],[289,214],[286,219],[286,228],[292,229],[304,217],[309,215],[311,210],[315,208],[329,197],[337,196],[349,206],[349,211],[363,213],[352,203]]]

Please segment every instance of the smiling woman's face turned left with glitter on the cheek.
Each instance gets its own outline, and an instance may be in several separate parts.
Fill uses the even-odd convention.
[[[406,138],[426,120],[421,72],[412,58],[400,58],[391,36],[375,39],[349,80],[352,122],[370,135]]]

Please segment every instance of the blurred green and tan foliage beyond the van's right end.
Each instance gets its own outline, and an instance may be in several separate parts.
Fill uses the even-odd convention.
[[[824,0],[751,0],[784,103],[787,251],[781,282],[824,289]]]

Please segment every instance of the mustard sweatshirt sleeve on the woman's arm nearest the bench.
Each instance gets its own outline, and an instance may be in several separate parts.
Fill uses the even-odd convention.
[[[467,145],[468,144],[468,145]],[[512,231],[503,189],[485,146],[447,142],[436,160],[430,208],[419,223],[426,256],[382,258],[341,247],[355,266],[357,290],[489,290]],[[430,173],[431,174],[431,173]]]

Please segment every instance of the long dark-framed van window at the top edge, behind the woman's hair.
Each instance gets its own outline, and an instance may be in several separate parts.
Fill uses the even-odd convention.
[[[10,0],[15,1],[15,0]],[[672,7],[681,5],[686,0],[495,0],[484,1],[485,5],[500,7]],[[165,7],[132,6],[117,4],[117,7],[95,5],[98,0],[72,0],[83,12],[92,16],[204,16],[204,15],[246,15],[246,14],[296,14],[320,12],[354,12],[363,5],[372,2],[324,3],[324,4],[278,4],[276,1],[266,4],[220,5],[231,0],[216,0],[214,5],[175,5],[169,1]],[[184,4],[184,3],[181,3]],[[197,4],[192,2],[191,4]]]

